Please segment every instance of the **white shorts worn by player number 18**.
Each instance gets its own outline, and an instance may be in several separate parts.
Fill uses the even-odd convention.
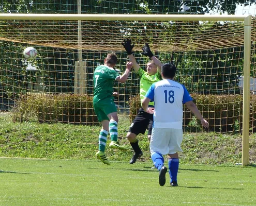
[[[180,148],[182,139],[182,129],[153,127],[149,144],[150,152],[159,152],[161,155],[167,155],[182,151],[182,148]]]

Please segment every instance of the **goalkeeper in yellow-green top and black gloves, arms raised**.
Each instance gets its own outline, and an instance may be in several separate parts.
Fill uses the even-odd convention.
[[[161,80],[162,63],[151,52],[149,45],[145,44],[142,47],[143,52],[141,54],[151,59],[146,65],[146,72],[145,72],[140,67],[140,65],[136,62],[134,56],[132,55],[132,48],[134,47],[134,45],[131,44],[131,40],[125,39],[122,42],[122,45],[124,46],[128,54],[129,61],[132,62],[132,67],[134,69],[135,74],[137,74],[138,77],[140,78],[140,99],[142,101],[145,98],[145,94],[147,93],[147,90],[150,88],[150,86],[153,83]],[[154,108],[154,102],[150,102],[149,107]],[[131,144],[132,149],[134,150],[134,154],[130,160],[130,164],[135,163],[137,159],[143,155],[141,148],[139,146],[137,135],[139,133],[144,134],[146,129],[148,128],[147,138],[150,141],[152,126],[153,126],[153,114],[149,114],[145,112],[143,108],[140,108],[137,116],[135,116],[135,118],[133,119],[132,124],[126,136]]]

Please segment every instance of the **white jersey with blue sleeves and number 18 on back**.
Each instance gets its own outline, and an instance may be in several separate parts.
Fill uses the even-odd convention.
[[[158,81],[145,97],[155,103],[153,127],[182,129],[183,104],[192,100],[183,84],[170,79]]]

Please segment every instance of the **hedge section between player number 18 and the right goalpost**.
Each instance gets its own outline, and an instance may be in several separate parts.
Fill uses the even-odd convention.
[[[235,129],[238,128],[237,122],[242,122],[242,95],[191,94],[191,96],[193,98],[194,103],[197,105],[199,111],[201,111],[203,117],[207,119],[207,121],[209,122],[209,131],[240,132],[242,128],[239,128],[239,130]],[[186,126],[190,122],[190,119],[193,116],[193,114],[186,106],[184,107],[184,111],[184,126],[187,131],[190,131],[190,128]],[[236,126],[236,128],[234,128],[234,126]],[[202,127],[201,129],[203,130]]]

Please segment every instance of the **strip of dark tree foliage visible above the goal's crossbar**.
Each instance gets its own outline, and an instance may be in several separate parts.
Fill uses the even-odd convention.
[[[81,0],[82,13],[111,14],[204,14],[227,12],[234,14],[237,5],[248,6],[255,0]],[[12,13],[77,13],[77,1],[63,0],[2,0],[0,10]]]

